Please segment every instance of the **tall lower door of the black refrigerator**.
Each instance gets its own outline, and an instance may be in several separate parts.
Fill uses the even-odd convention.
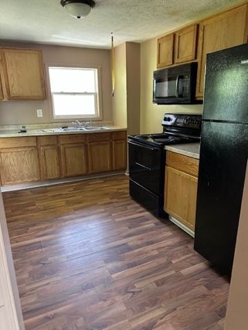
[[[231,274],[245,179],[248,124],[203,122],[195,250]]]

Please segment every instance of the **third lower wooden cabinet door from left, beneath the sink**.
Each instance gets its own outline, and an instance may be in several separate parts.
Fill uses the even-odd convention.
[[[85,144],[63,144],[61,146],[61,154],[64,177],[87,174],[87,154]]]

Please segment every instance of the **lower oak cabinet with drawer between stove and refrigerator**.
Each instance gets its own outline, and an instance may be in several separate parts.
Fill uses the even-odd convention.
[[[164,210],[194,232],[198,159],[167,152]]]

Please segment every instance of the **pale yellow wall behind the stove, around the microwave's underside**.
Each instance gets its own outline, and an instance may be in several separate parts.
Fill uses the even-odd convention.
[[[164,113],[202,113],[203,106],[152,103],[153,72],[156,70],[157,38],[141,43],[141,133],[160,133]]]

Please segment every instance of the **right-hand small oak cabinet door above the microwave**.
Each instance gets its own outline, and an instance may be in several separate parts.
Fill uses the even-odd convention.
[[[198,25],[189,26],[176,32],[175,63],[184,63],[196,59],[196,36]]]

